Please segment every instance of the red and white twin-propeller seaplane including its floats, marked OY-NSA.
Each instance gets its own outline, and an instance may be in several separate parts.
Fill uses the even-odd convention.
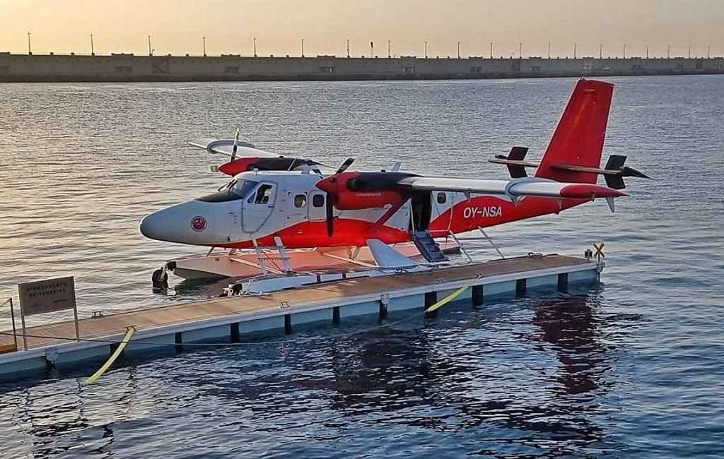
[[[539,162],[526,160],[528,148],[518,146],[490,159],[507,166],[505,180],[430,176],[402,171],[400,163],[389,171],[353,171],[353,158],[332,171],[311,158],[242,142],[240,129],[233,139],[191,140],[227,156],[212,170],[230,180],[140,221],[148,238],[209,248],[165,262],[153,284],[164,286],[169,271],[188,279],[304,273],[321,282],[418,267],[415,258],[430,266],[449,262],[448,254],[460,249],[460,233],[596,199],[613,212],[614,200],[627,196],[623,178],[647,176],[624,166],[621,155],[600,167],[612,97],[612,84],[578,80]],[[526,168],[536,172],[529,176]],[[598,176],[605,185],[597,184]]]

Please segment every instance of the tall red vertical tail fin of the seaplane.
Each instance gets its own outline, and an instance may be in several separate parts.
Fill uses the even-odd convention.
[[[536,177],[595,184],[596,173],[570,171],[555,166],[597,168],[601,162],[613,85],[581,78],[536,171]]]

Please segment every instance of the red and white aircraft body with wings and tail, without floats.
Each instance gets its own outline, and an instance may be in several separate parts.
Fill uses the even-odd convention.
[[[626,196],[622,177],[644,174],[612,156],[600,168],[613,85],[578,81],[540,163],[513,147],[494,163],[511,179],[423,176],[401,171],[349,171],[348,159],[324,175],[309,159],[286,158],[234,140],[189,142],[229,155],[218,171],[232,180],[218,192],[159,210],[140,222],[144,236],[198,246],[248,249],[366,246],[414,241],[429,261],[445,259],[434,237],[536,217],[605,198]],[[535,176],[526,167],[537,167]],[[597,185],[605,176],[607,186]]]

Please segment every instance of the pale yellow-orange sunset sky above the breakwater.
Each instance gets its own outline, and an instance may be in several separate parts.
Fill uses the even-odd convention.
[[[0,52],[487,56],[724,54],[724,0],[0,0]]]

